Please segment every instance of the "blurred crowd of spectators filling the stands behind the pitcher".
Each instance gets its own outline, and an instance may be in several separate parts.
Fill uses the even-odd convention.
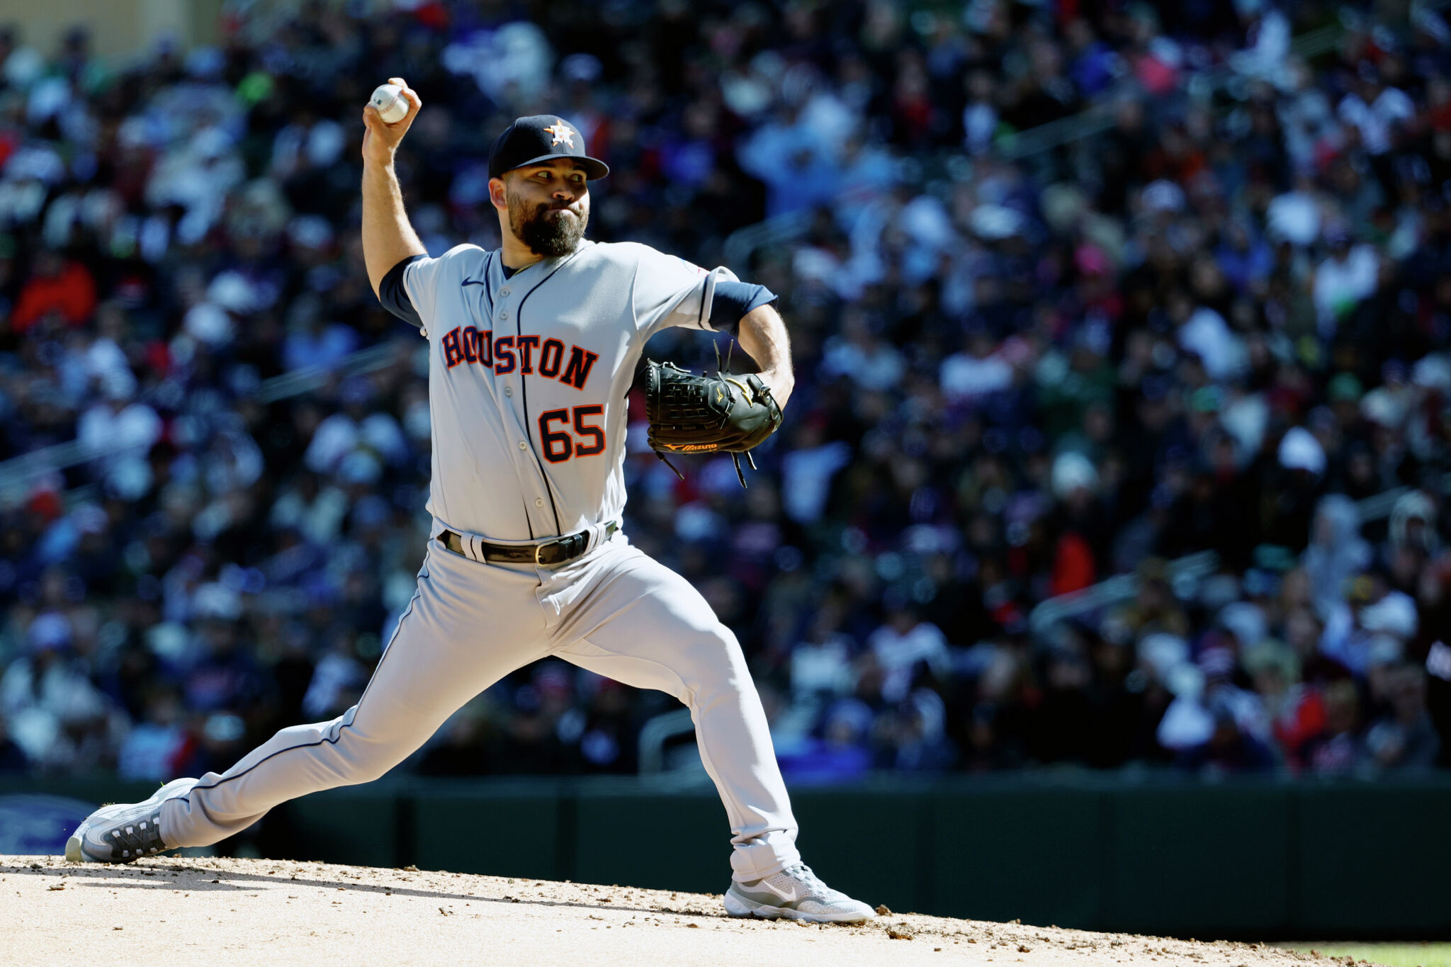
[[[428,523],[425,344],[358,238],[389,75],[432,254],[498,245],[488,145],[548,112],[612,168],[592,238],[781,296],[760,473],[681,481],[636,419],[625,531],[741,639],[789,781],[1451,763],[1431,9],[223,10],[125,61],[0,29],[0,773],[222,770],[358,699]],[[403,768],[630,773],[672,706],[546,661]]]

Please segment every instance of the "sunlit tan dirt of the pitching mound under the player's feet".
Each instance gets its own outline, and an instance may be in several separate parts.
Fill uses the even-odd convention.
[[[322,863],[0,857],[0,963],[1229,964],[1230,942],[884,912],[865,926],[737,921],[718,896]]]

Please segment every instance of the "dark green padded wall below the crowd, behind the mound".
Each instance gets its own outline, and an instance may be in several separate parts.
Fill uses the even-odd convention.
[[[0,780],[135,800],[104,780]],[[792,790],[807,861],[897,912],[1199,938],[1451,938],[1451,779],[887,779]],[[720,893],[711,787],[389,780],[276,809],[266,855]]]

